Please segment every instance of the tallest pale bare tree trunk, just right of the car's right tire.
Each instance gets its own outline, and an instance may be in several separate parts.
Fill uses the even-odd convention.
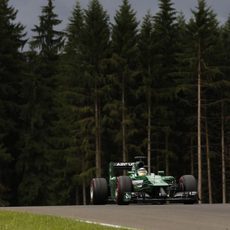
[[[198,45],[198,84],[197,84],[197,154],[198,154],[198,194],[202,203],[202,155],[201,155],[201,50]]]

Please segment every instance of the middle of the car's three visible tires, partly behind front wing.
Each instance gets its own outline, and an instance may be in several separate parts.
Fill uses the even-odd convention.
[[[129,204],[129,202],[123,201],[123,196],[126,192],[132,192],[132,180],[128,176],[119,176],[116,189],[116,203],[118,205]]]

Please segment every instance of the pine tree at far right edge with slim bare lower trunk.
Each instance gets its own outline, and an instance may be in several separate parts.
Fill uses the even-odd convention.
[[[229,185],[230,174],[228,173],[228,169],[230,167],[229,162],[229,153],[228,153],[228,132],[229,132],[229,89],[230,89],[230,81],[229,81],[229,46],[230,41],[230,18],[226,21],[226,23],[220,29],[220,37],[218,40],[218,45],[215,50],[218,50],[218,55],[215,58],[215,63],[218,63],[220,74],[218,74],[218,78],[214,79],[214,82],[210,84],[210,87],[215,92],[216,98],[215,101],[212,99],[212,108],[219,111],[217,120],[220,120],[220,152],[221,152],[221,184],[222,184],[222,203],[226,203],[227,196],[227,188]],[[218,93],[219,92],[219,93]],[[220,191],[219,191],[220,192]]]

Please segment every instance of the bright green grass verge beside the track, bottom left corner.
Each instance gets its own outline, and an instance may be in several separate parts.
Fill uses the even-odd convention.
[[[115,228],[82,221],[30,214],[25,212],[0,211],[0,230],[112,230]],[[116,228],[125,229],[125,228]]]

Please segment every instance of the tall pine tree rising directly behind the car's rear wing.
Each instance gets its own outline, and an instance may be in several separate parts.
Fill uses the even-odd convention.
[[[113,98],[117,104],[121,116],[121,132],[116,129],[117,143],[122,143],[122,160],[129,159],[129,152],[139,152],[134,135],[135,127],[135,93],[138,86],[138,23],[136,14],[131,9],[128,0],[123,0],[116,12],[114,25],[112,26],[112,63],[114,65],[114,85],[117,88]],[[119,117],[116,117],[119,120]]]

